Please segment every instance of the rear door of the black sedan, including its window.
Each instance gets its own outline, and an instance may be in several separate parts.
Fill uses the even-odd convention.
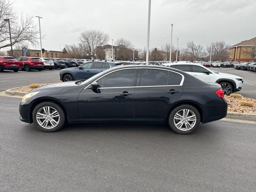
[[[163,120],[183,92],[184,76],[171,70],[140,68],[135,94],[134,118]]]

